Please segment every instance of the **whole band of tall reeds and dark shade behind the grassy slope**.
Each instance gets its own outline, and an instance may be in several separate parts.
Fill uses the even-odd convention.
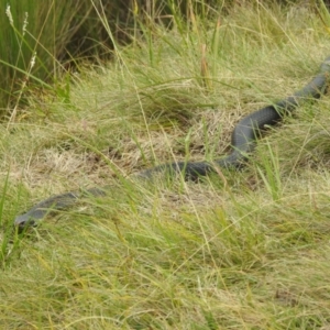
[[[205,20],[235,3],[240,2],[1,0],[0,117],[13,119],[29,89],[48,89],[54,82],[58,87],[58,74],[72,66],[77,68],[81,58],[103,61],[111,56],[116,43],[130,43],[138,35],[147,35],[143,26],[147,28],[148,22],[170,25],[174,18],[176,26],[182,29],[187,21],[194,24],[194,12]],[[99,20],[100,12],[103,20]],[[32,67],[34,59],[36,65]],[[61,87],[54,91],[61,94]]]

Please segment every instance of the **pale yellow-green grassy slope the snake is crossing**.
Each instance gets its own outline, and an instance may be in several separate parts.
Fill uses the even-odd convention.
[[[329,55],[301,9],[237,9],[212,24],[154,29],[0,128],[2,329],[328,329],[328,97],[262,140],[242,173],[124,179],[224,154],[239,118],[302,87]],[[25,207],[101,184],[107,198],[7,242]]]

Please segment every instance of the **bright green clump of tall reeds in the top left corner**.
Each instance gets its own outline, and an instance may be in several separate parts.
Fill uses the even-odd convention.
[[[54,0],[42,3],[28,0],[0,2],[2,116],[12,114],[20,97],[29,95],[29,89],[33,86],[47,88],[42,81],[50,78],[52,79],[48,81],[54,81],[56,74],[61,72],[57,59],[86,20],[84,15],[77,18],[82,4],[80,1],[72,3]],[[84,14],[88,15],[88,11]],[[33,62],[35,65],[32,66]]]

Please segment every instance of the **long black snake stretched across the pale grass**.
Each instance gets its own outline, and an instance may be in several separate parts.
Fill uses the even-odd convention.
[[[282,119],[295,110],[301,101],[319,99],[327,91],[328,76],[330,74],[330,56],[327,57],[319,69],[319,74],[308,82],[305,87],[294,92],[289,97],[271,103],[255,112],[252,112],[241,119],[235,125],[231,135],[231,152],[222,157],[209,162],[173,162],[165,163],[148,169],[144,169],[136,174],[141,178],[151,178],[156,173],[179,173],[185,180],[198,180],[199,177],[216,173],[217,167],[223,169],[239,169],[242,168],[250,154],[256,145],[256,140],[270,127],[273,127],[282,121]],[[218,170],[219,170],[218,168]],[[108,187],[109,188],[109,187]],[[40,220],[44,219],[48,213],[62,210],[73,206],[77,200],[86,196],[103,196],[107,186],[99,188],[90,188],[85,191],[75,190],[61,195],[52,196],[34,205],[25,213],[18,216],[14,219],[14,226],[20,231],[28,227],[36,226]]]

